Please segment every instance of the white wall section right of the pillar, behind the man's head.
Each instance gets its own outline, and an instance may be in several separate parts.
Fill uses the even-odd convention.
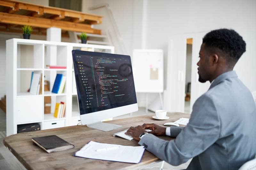
[[[256,1],[255,0],[162,0],[148,1],[147,48],[164,49],[167,61],[167,43],[175,34],[196,33],[218,28],[232,28],[243,36],[246,52],[235,70],[251,90],[256,90]],[[199,51],[199,49],[198,49]],[[165,62],[167,63],[167,62]],[[166,72],[165,75],[170,74]]]

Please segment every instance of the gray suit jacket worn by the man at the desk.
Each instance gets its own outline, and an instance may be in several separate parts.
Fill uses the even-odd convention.
[[[139,144],[171,165],[193,158],[188,169],[238,169],[256,152],[256,107],[235,71],[218,76],[200,96],[185,128],[171,127],[176,139],[152,134]]]

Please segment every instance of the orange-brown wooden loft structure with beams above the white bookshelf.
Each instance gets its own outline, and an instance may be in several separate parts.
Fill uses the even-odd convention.
[[[92,25],[101,24],[102,16],[68,9],[42,6],[13,0],[0,0],[0,31],[22,33],[21,25],[33,27],[32,34],[46,35],[46,29],[58,27],[67,31],[101,34]]]

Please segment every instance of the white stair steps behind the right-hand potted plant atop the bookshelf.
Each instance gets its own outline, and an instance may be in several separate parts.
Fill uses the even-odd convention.
[[[75,43],[81,43],[81,39],[79,38],[80,34],[81,33],[74,32],[74,31],[68,32],[70,40]],[[87,44],[109,45],[109,46],[113,45],[113,43],[109,41],[110,38],[108,35],[91,34],[91,33],[86,33],[86,35],[87,35]]]

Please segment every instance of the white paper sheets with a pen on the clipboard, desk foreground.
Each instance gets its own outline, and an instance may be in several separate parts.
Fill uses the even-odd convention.
[[[84,145],[80,151],[77,151],[75,156],[117,162],[139,163],[144,151],[144,146],[123,146],[91,141]]]

